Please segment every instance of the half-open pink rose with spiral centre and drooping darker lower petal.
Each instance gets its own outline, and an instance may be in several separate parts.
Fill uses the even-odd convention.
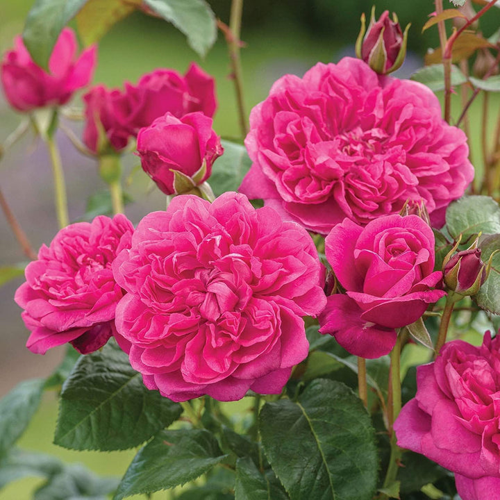
[[[346,294],[328,297],[319,316],[351,354],[378,358],[396,342],[396,331],[422,317],[444,296],[434,269],[434,235],[417,215],[386,215],[364,228],[344,219],[325,240],[326,259]]]

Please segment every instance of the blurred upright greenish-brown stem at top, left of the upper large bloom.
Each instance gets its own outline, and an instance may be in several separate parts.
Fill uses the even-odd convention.
[[[219,28],[222,29],[226,36],[226,42],[229,49],[229,58],[231,60],[231,68],[233,69],[233,81],[236,92],[236,104],[238,107],[238,119],[240,122],[240,131],[242,138],[245,138],[248,133],[247,114],[244,110],[243,98],[243,72],[240,58],[240,33],[243,14],[243,0],[233,0],[231,3],[231,15],[229,18],[229,28],[219,23]]]

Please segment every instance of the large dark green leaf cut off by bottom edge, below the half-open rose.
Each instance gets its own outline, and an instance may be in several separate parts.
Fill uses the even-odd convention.
[[[349,387],[317,379],[297,402],[266,403],[259,426],[264,451],[290,499],[372,498],[375,431]]]

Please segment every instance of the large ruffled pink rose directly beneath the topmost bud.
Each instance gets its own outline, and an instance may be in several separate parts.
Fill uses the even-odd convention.
[[[472,181],[466,136],[426,86],[379,77],[363,60],[285,75],[251,111],[253,165],[240,192],[328,234],[423,199],[433,226]]]

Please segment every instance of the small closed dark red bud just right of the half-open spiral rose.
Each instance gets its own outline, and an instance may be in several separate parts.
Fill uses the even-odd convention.
[[[444,284],[460,295],[475,295],[487,278],[487,265],[481,260],[481,249],[462,250],[453,255],[443,268]]]

